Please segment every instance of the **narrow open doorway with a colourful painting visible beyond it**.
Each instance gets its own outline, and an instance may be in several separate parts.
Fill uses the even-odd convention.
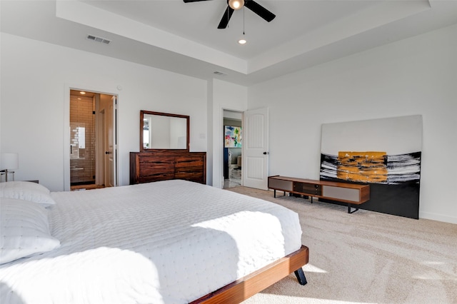
[[[243,184],[242,118],[242,112],[224,110],[224,188]]]

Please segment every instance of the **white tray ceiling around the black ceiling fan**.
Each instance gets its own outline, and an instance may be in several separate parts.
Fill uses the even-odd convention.
[[[457,23],[457,0],[256,2],[276,18],[268,23],[241,9],[217,29],[226,0],[1,0],[1,31],[249,86]]]

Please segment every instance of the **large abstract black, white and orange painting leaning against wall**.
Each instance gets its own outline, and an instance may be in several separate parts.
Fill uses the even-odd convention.
[[[320,179],[370,185],[360,208],[418,218],[422,116],[326,123]]]

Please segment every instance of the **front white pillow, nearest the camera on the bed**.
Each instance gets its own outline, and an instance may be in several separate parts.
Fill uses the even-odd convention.
[[[60,246],[49,232],[47,212],[37,203],[0,198],[0,264]]]

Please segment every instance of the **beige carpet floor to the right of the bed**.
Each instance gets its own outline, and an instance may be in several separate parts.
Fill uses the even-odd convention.
[[[263,198],[296,211],[309,248],[295,275],[244,303],[457,303],[457,225],[413,220],[236,187],[229,191]],[[278,195],[282,195],[278,193]]]

